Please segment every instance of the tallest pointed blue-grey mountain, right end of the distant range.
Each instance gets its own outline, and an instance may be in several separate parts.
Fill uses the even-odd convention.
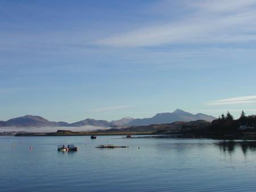
[[[205,114],[191,114],[183,110],[177,109],[174,112],[164,112],[153,116],[152,118],[134,119],[127,123],[126,126],[148,126],[150,124],[165,124],[173,122],[191,122],[195,120],[207,120],[212,122],[214,116]]]

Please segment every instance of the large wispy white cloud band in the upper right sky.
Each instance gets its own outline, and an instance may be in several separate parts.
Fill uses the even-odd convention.
[[[256,40],[256,1],[200,1],[188,5],[193,14],[135,28],[95,43],[112,47],[147,47],[184,43],[230,43]]]

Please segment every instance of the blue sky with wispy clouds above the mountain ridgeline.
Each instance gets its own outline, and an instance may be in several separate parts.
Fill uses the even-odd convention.
[[[0,120],[256,114],[256,1],[0,0]]]

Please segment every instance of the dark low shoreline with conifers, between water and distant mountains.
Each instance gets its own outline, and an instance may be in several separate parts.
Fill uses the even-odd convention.
[[[177,112],[177,111],[176,111]],[[184,113],[184,112],[181,112]],[[6,135],[8,133],[4,133]],[[13,134],[13,133],[9,133]],[[191,122],[173,122],[164,124],[150,124],[148,126],[115,127],[93,131],[58,130],[56,132],[17,132],[15,136],[79,136],[79,135],[150,135],[133,138],[212,138],[212,139],[256,139],[256,115],[246,116],[242,111],[239,119],[234,119],[229,113],[222,114],[220,118],[208,122],[195,120]],[[129,135],[129,136],[128,136]]]

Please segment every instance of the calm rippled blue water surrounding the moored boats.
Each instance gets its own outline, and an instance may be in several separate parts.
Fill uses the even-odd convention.
[[[129,148],[94,148],[107,142]],[[0,137],[0,163],[0,191],[256,191],[254,142]]]

